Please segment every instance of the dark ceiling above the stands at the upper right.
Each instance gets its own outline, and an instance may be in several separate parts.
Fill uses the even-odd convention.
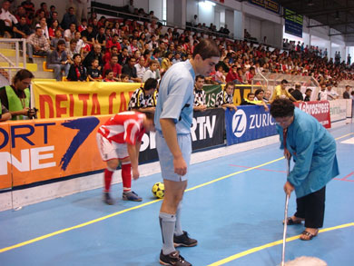
[[[348,41],[354,38],[354,0],[279,0],[279,3],[299,15],[320,22],[320,25],[311,25],[310,22],[304,27],[328,26],[331,29],[329,36],[343,35]]]

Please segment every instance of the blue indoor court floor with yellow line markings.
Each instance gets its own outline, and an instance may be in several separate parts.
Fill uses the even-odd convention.
[[[354,265],[354,125],[330,133],[337,140],[340,174],[327,186],[324,227],[312,241],[300,241],[303,225],[288,226],[286,261],[311,256],[330,266]],[[279,146],[191,165],[182,228],[199,243],[180,248],[187,261],[280,265],[286,161]],[[97,189],[0,212],[0,265],[159,265],[161,200],[151,189],[161,181],[157,173],[133,182],[143,202],[123,202],[119,183],[113,185],[112,206]]]

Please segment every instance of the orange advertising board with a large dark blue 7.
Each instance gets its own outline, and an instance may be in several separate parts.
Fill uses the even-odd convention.
[[[96,133],[110,117],[2,123],[0,189],[103,169]]]

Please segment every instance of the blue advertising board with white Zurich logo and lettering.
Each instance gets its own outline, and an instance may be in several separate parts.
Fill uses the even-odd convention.
[[[263,106],[238,106],[225,112],[228,145],[244,143],[277,134],[275,121]]]

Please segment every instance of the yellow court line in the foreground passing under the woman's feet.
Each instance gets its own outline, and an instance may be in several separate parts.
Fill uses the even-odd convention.
[[[342,228],[346,228],[346,227],[349,227],[349,226],[354,226],[354,222],[349,222],[349,223],[341,224],[341,225],[338,225],[338,226],[324,228],[324,229],[321,229],[319,231],[319,233],[320,232],[329,232],[329,231],[333,231],[333,230],[337,230],[337,229],[342,229]],[[294,240],[297,240],[297,239],[300,239],[300,235],[296,235],[296,236],[292,236],[290,238],[287,238],[286,241],[290,242],[290,241],[294,241]],[[257,251],[261,251],[261,250],[265,250],[265,249],[268,249],[268,248],[271,248],[271,247],[274,247],[274,246],[280,245],[280,244],[282,244],[282,240],[273,241],[273,242],[270,242],[270,243],[265,244],[265,245],[261,245],[261,246],[256,247],[256,248],[252,248],[252,249],[250,249],[248,251],[242,251],[240,253],[234,254],[234,255],[232,255],[232,256],[230,256],[228,258],[222,259],[221,261],[213,262],[213,263],[209,264],[208,266],[219,266],[219,265],[225,264],[227,262],[240,259],[241,257],[247,256],[247,255],[249,255],[251,253],[254,253],[254,252],[257,252]]]

